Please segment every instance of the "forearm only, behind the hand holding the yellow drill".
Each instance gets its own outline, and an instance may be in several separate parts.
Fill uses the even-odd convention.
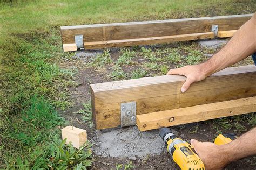
[[[229,162],[237,161],[239,159],[256,155],[256,128],[248,131],[238,139],[231,143],[220,146],[221,152]]]

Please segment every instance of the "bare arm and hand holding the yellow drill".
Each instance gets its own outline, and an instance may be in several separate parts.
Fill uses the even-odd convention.
[[[197,154],[206,169],[221,169],[233,161],[250,155],[256,155],[256,128],[243,134],[226,145],[215,145],[211,142],[199,142],[192,139]]]

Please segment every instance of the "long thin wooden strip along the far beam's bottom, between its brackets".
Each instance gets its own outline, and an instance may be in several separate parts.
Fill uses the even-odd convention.
[[[207,38],[214,38],[214,33],[204,32],[204,33],[184,34],[184,35],[176,35],[176,36],[85,42],[84,48],[97,49],[97,48],[109,48],[109,47],[123,47],[123,46],[134,46],[134,45],[167,43],[167,42],[174,42],[174,41],[189,41],[189,40],[198,40],[198,39],[207,39]]]

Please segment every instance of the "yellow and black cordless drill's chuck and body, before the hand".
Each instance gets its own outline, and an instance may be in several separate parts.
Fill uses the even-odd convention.
[[[167,151],[182,170],[204,170],[205,166],[193,146],[178,138],[171,129],[160,127],[159,136],[164,140]]]

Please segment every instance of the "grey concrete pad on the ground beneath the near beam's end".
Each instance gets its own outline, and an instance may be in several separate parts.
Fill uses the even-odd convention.
[[[174,134],[177,131],[173,130]],[[160,155],[166,150],[158,130],[140,132],[137,126],[98,130],[92,139],[92,151],[101,157],[119,157],[135,160],[146,155]]]

